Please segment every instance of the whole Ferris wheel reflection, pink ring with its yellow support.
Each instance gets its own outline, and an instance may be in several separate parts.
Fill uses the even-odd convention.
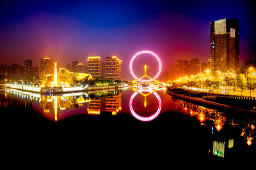
[[[136,119],[140,120],[140,121],[143,121],[143,122],[149,122],[149,121],[152,121],[154,120],[160,113],[161,111],[161,108],[162,108],[162,101],[161,101],[161,98],[160,96],[157,94],[156,90],[154,89],[132,89],[134,90],[135,92],[132,94],[131,98],[130,98],[130,102],[129,102],[129,108],[130,108],[130,111],[132,113],[132,116],[135,117]],[[143,93],[143,92],[147,92],[147,94]],[[132,101],[134,100],[134,97],[136,97],[138,94],[140,94],[141,96],[144,97],[144,106],[145,108],[147,107],[147,97],[150,96],[150,95],[154,95],[156,98],[157,98],[157,101],[158,101],[158,108],[157,108],[157,111],[156,113],[150,115],[149,117],[142,117],[140,115],[138,115],[138,113],[136,113],[134,111],[134,109],[132,108]]]

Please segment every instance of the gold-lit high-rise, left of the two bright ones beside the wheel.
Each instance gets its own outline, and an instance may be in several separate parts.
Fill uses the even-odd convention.
[[[92,75],[93,78],[102,76],[102,66],[100,57],[88,57],[88,73]]]

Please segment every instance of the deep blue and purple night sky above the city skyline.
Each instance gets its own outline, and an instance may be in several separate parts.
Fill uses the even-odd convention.
[[[256,53],[250,1],[1,1],[0,8],[0,63],[40,66],[51,57],[65,67],[116,55],[131,78],[132,55],[152,50],[170,71],[177,59],[207,62],[210,21],[222,18],[239,19],[240,63]]]

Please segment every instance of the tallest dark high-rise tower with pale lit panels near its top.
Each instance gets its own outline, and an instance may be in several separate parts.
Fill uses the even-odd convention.
[[[239,20],[211,22],[211,71],[239,70]]]

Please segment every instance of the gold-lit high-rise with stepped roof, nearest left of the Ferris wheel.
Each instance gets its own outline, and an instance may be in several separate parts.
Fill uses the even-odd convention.
[[[106,57],[106,78],[120,80],[122,77],[122,60],[116,56]]]

